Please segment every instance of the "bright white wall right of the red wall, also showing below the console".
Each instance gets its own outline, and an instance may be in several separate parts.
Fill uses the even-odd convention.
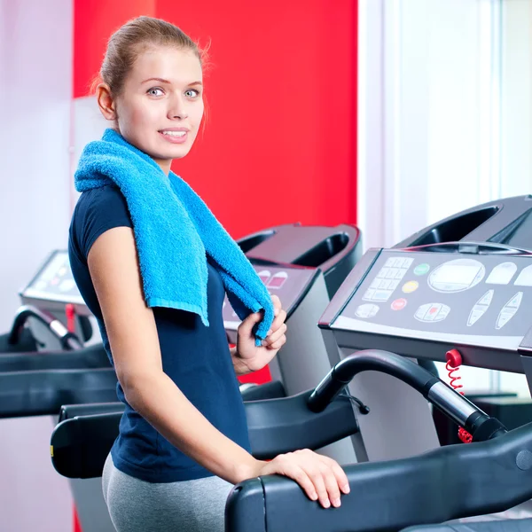
[[[357,207],[366,248],[532,192],[532,3],[360,0],[359,21]],[[524,376],[462,375],[469,389],[528,395]]]

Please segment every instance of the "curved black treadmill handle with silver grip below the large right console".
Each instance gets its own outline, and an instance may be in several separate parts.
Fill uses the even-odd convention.
[[[490,440],[508,432],[498,419],[490,418],[464,395],[418,364],[378,349],[358,351],[340,360],[309,396],[309,410],[325,410],[357,373],[367,371],[387,373],[418,390],[436,408],[463,426],[473,436],[473,442]]]

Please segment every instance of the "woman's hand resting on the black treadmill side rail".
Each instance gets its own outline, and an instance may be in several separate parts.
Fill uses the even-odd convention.
[[[276,473],[296,481],[309,499],[324,508],[338,508],[340,492],[349,493],[348,477],[338,462],[309,449],[278,455],[270,462],[257,460],[250,478]]]

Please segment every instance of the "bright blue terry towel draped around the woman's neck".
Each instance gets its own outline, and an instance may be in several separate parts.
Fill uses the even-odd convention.
[[[237,243],[181,177],[167,176],[146,153],[106,129],[85,146],[74,175],[78,192],[116,184],[135,232],[145,301],[198,314],[208,326],[207,256],[219,271],[240,319],[264,311],[256,327],[261,345],[273,322],[270,293]]]

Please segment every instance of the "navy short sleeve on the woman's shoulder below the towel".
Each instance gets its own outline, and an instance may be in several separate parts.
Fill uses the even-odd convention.
[[[128,205],[117,187],[106,185],[82,192],[74,210],[72,239],[87,260],[96,239],[114,227],[133,227]]]

